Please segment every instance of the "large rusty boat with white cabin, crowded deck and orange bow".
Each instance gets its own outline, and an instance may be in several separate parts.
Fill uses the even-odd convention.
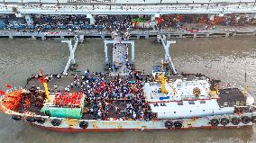
[[[151,75],[113,78],[86,73],[74,78],[82,84],[75,83],[65,92],[49,91],[48,85],[73,81],[73,76],[52,76],[50,81],[48,76],[33,76],[30,80],[45,89],[29,86],[2,92],[0,109],[14,121],[67,132],[224,129],[256,122],[251,94],[233,86],[222,87],[219,80],[202,74],[171,75],[154,67]],[[82,81],[84,86],[95,84],[94,88],[108,93],[107,97],[101,91],[80,90]],[[113,88],[124,92],[109,94]]]

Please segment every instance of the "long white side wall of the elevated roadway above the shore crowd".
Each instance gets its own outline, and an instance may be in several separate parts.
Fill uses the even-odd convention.
[[[14,12],[14,8],[16,12]],[[181,4],[181,5],[69,5],[69,4],[0,4],[0,13],[44,13],[44,14],[167,14],[167,13],[256,13],[251,4]]]

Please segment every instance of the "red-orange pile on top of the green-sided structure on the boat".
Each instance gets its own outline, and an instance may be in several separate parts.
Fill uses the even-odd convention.
[[[83,94],[56,94],[53,103],[59,107],[80,108],[83,102]]]

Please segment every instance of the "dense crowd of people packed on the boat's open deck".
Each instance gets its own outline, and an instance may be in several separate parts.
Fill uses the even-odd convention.
[[[32,75],[40,78],[42,75]],[[63,75],[45,76],[48,82],[60,80]],[[75,75],[65,87],[65,93],[85,94],[84,119],[101,120],[146,120],[156,117],[143,96],[143,85],[147,78],[142,72],[131,72],[129,76],[111,76],[109,73],[95,73],[87,70],[83,76]],[[61,89],[63,90],[63,89]],[[51,92],[64,92],[54,85]]]

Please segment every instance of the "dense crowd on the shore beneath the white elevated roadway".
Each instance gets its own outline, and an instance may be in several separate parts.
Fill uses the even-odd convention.
[[[18,30],[30,29],[31,31],[49,31],[69,29],[72,31],[97,30],[188,30],[196,27],[187,26],[189,23],[197,23],[204,29],[213,25],[242,26],[254,24],[254,18],[250,14],[225,14],[224,16],[208,14],[164,14],[160,18],[151,19],[151,15],[94,15],[94,22],[86,15],[32,15],[32,24],[26,24],[24,18],[16,18],[14,15],[1,15],[0,28],[13,28]],[[143,20],[141,22],[134,20]],[[12,25],[9,21],[17,21],[19,25]],[[11,24],[11,26],[10,26]],[[198,28],[198,27],[197,27]]]

